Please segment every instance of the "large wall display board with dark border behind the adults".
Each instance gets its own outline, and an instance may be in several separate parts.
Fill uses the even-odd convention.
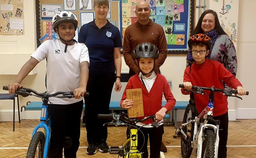
[[[110,0],[107,19],[119,28],[121,38],[125,29],[138,19],[136,3],[142,0]],[[168,44],[168,54],[187,54],[187,41],[194,28],[193,0],[147,0],[150,19],[161,25]],[[78,31],[94,19],[93,0],[36,0],[37,46],[48,39],[58,39],[53,31],[51,18],[59,11],[71,11],[78,18]]]

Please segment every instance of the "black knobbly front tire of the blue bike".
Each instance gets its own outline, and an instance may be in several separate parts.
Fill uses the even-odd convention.
[[[28,147],[28,152],[26,158],[43,158],[44,156],[44,143],[45,136],[44,133],[38,131],[34,134]],[[38,150],[37,150],[38,149]],[[37,152],[38,151],[38,152]]]

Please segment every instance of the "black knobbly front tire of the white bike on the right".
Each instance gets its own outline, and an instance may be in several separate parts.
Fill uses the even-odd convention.
[[[201,158],[214,158],[214,148],[215,148],[214,132],[208,129],[204,134],[205,134],[205,140],[203,140]]]

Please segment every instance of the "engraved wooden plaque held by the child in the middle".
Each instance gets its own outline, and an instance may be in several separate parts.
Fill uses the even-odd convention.
[[[141,88],[126,90],[126,98],[134,101],[133,106],[128,109],[128,117],[144,116]]]

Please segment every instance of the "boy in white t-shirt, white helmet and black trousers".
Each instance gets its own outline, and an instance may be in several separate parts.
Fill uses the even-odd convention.
[[[52,27],[60,39],[42,43],[21,68],[15,81],[8,85],[10,93],[22,87],[21,81],[42,60],[47,59],[46,86],[48,93],[74,91],[75,98],[49,98],[51,119],[50,158],[62,158],[65,137],[72,139],[72,145],[64,148],[64,156],[76,158],[80,138],[80,117],[83,96],[89,75],[89,55],[85,44],[77,43],[75,30],[76,16],[67,11],[52,18]]]

